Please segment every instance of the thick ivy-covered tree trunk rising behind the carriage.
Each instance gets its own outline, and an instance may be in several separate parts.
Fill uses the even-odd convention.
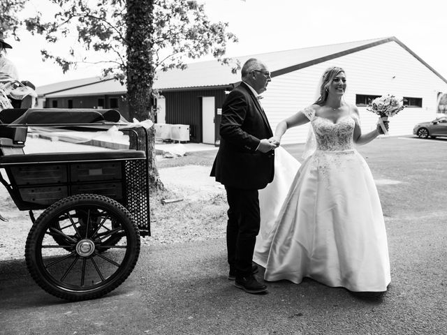
[[[152,66],[152,36],[154,0],[127,0],[126,40],[127,40],[127,100],[129,115],[138,121],[150,119],[155,122],[152,84],[154,83],[154,66]],[[155,161],[155,131],[149,128],[149,138],[144,141],[139,129],[138,147],[149,149],[149,187],[163,189]],[[135,140],[131,147],[135,148]]]

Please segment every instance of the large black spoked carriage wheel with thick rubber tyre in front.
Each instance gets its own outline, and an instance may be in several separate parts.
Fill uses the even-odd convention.
[[[139,253],[140,233],[129,211],[102,195],[80,194],[55,202],[37,218],[28,234],[25,259],[45,291],[85,300],[121,285]]]

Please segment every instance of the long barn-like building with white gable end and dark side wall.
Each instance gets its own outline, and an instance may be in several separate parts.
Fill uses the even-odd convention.
[[[395,37],[237,59],[243,64],[251,57],[261,59],[272,73],[261,103],[273,129],[282,119],[314,102],[318,78],[329,66],[346,71],[345,98],[358,106],[363,131],[372,130],[377,120],[366,110],[369,98],[383,94],[404,98],[407,107],[390,119],[390,135],[409,135],[415,124],[436,117],[441,96],[447,92],[447,80]],[[189,125],[191,142],[214,144],[219,140],[221,107],[228,91],[239,84],[240,72],[233,74],[228,66],[213,60],[158,75],[154,88],[159,89],[161,97],[156,99],[156,122]],[[72,107],[117,108],[128,114],[124,87],[114,80],[91,81],[40,96],[45,98],[45,107],[68,107],[71,100]],[[291,129],[282,143],[305,142],[307,127]]]

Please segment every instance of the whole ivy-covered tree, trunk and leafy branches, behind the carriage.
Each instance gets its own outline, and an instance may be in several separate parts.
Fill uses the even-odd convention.
[[[42,34],[48,43],[75,38],[83,50],[105,54],[100,60],[79,57],[75,47],[52,54],[41,50],[64,73],[76,64],[101,63],[103,75],[113,75],[127,85],[130,117],[154,121],[152,89],[156,72],[186,68],[186,59],[212,54],[223,64],[233,65],[225,56],[228,43],[237,42],[227,31],[228,24],[211,22],[203,4],[193,0],[47,0],[58,10],[54,20],[45,21],[41,13],[25,20],[31,34]],[[133,144],[133,143],[131,143]],[[141,143],[139,143],[141,144]],[[155,164],[154,129],[149,131],[149,183],[163,188]]]

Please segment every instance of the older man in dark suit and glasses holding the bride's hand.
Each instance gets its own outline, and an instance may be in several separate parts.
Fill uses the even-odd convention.
[[[241,84],[223,103],[221,142],[211,176],[225,186],[228,200],[228,279],[246,292],[261,293],[267,287],[256,281],[252,263],[260,225],[258,190],[273,180],[276,146],[270,142],[272,129],[258,95],[271,77],[258,59],[249,59],[241,75]]]

